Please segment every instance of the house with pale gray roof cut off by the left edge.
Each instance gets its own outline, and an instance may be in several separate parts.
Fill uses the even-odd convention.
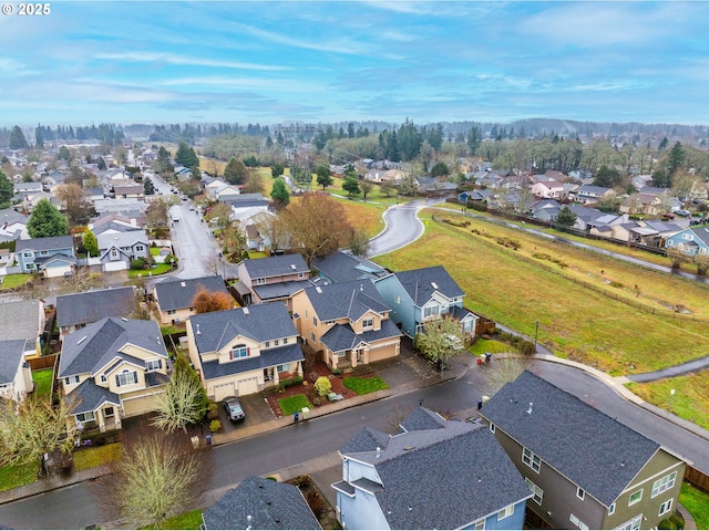
[[[24,357],[42,355],[41,337],[47,316],[44,303],[35,301],[16,301],[0,304],[0,339],[24,342]]]

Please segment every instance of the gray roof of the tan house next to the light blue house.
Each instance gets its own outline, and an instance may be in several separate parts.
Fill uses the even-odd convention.
[[[389,311],[389,306],[371,280],[322,284],[306,288],[308,299],[320,321],[349,317],[357,321],[369,310],[377,313]]]

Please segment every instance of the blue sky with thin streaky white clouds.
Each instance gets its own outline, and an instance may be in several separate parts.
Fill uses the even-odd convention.
[[[709,124],[707,21],[675,1],[52,1],[0,15],[0,125]]]

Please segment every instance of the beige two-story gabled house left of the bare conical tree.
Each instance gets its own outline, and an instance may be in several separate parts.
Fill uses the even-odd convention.
[[[167,351],[155,321],[106,317],[62,342],[58,379],[75,427],[121,428],[121,419],[154,410],[168,382]]]

